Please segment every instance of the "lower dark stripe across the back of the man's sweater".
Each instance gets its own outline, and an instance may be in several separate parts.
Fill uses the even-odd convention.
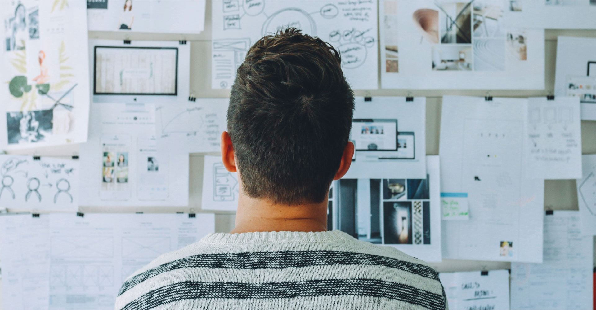
[[[445,309],[445,297],[442,294],[368,278],[275,283],[182,281],[151,290],[127,303],[122,309],[151,309],[170,302],[199,298],[279,299],[338,295],[388,298],[428,309]]]

